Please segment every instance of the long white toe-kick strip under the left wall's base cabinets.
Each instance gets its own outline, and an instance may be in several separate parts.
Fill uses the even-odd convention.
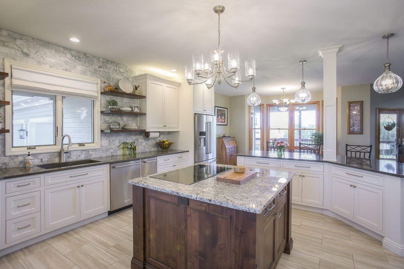
[[[6,254],[8,254],[8,253],[11,253],[11,252],[13,252],[13,251],[15,251],[15,250],[19,250],[19,249],[21,249],[21,248],[25,248],[26,246],[29,246],[29,245],[38,243],[38,242],[40,242],[40,241],[46,240],[46,239],[48,239],[48,238],[51,238],[51,237],[53,237],[53,236],[57,236],[58,234],[62,234],[62,233],[64,233],[65,231],[69,231],[69,230],[71,230],[71,229],[80,227],[80,226],[82,226],[82,225],[85,225],[85,224],[87,224],[87,223],[96,221],[97,219],[101,219],[101,218],[107,217],[107,216],[108,216],[108,212],[105,212],[105,213],[102,213],[102,214],[100,214],[100,215],[97,215],[97,216],[94,216],[94,217],[90,217],[90,218],[88,218],[88,219],[84,219],[84,220],[82,220],[82,221],[79,221],[79,222],[76,222],[76,223],[67,225],[67,226],[65,226],[65,227],[61,227],[60,229],[50,231],[50,232],[48,232],[48,233],[46,233],[46,234],[42,234],[42,235],[40,235],[40,236],[38,236],[38,237],[31,238],[31,239],[29,239],[29,240],[27,240],[27,241],[24,241],[24,242],[21,242],[21,243],[19,243],[19,244],[15,244],[15,245],[13,245],[13,246],[9,246],[8,248],[4,248],[4,249],[0,250],[0,257],[6,255]]]

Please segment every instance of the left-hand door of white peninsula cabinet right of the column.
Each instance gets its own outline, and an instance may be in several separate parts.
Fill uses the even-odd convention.
[[[353,182],[338,177],[331,178],[331,208],[353,219]]]

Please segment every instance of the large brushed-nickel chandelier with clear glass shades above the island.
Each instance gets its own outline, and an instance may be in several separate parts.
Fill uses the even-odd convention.
[[[208,89],[212,88],[215,83],[220,85],[224,79],[228,85],[237,88],[242,81],[252,81],[255,77],[255,60],[246,60],[245,62],[246,77],[248,77],[248,80],[241,79],[240,52],[238,52],[238,50],[231,50],[227,53],[227,65],[229,69],[226,69],[224,60],[222,59],[224,50],[220,46],[220,14],[225,11],[225,7],[215,6],[213,11],[219,16],[217,24],[219,42],[217,46],[210,50],[210,55],[204,55],[199,52],[192,54],[192,65],[185,65],[185,79],[189,85],[205,83]],[[204,72],[204,76],[201,75],[202,71]],[[204,81],[194,82],[195,74],[198,77],[202,77]],[[231,85],[227,79],[231,80],[233,85]],[[254,87],[252,90],[252,93],[255,93]]]

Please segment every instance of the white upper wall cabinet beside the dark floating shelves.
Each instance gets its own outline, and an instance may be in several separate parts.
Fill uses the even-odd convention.
[[[146,131],[179,131],[179,85],[181,83],[150,74],[135,77],[140,85],[139,129]]]

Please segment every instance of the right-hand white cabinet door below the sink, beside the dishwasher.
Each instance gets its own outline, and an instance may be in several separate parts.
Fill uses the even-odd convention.
[[[80,188],[80,217],[108,209],[108,179],[101,177],[81,183]]]

